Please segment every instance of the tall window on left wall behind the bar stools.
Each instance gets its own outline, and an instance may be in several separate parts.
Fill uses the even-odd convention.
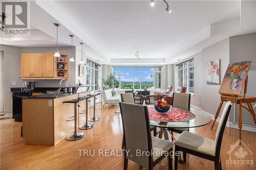
[[[93,85],[92,90],[98,90],[99,78],[100,78],[100,65],[94,63],[90,60],[87,60],[87,71],[86,71],[86,84]]]

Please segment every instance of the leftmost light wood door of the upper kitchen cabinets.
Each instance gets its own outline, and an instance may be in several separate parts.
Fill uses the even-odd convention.
[[[20,77],[31,77],[31,53],[21,56]]]

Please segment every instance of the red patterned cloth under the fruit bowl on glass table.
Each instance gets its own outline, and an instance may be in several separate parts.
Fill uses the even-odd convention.
[[[196,117],[195,114],[178,108],[170,108],[169,111],[163,114],[157,112],[154,107],[148,107],[148,115],[151,120],[161,122],[186,122]]]

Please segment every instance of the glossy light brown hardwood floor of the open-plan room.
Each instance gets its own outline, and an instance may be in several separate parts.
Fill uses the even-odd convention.
[[[13,122],[12,119],[2,119],[1,124],[1,169],[122,169],[122,156],[99,156],[98,150],[102,149],[117,150],[121,155],[122,143],[122,124],[121,116],[114,113],[116,106],[97,106],[96,114],[101,117],[99,122],[95,123],[95,128],[90,130],[79,130],[86,133],[86,136],[78,141],[67,141],[62,139],[56,146],[47,145],[28,145],[20,137],[20,126],[22,123]],[[90,113],[92,116],[92,112]],[[199,128],[191,128],[190,131],[208,138],[214,139],[216,127],[210,129],[210,125]],[[236,155],[243,157],[242,160],[252,160],[256,162],[256,133],[243,131],[243,142],[252,152],[252,154],[243,147],[239,152],[238,146],[233,152],[231,159],[240,160]],[[177,138],[179,134],[175,133]],[[237,129],[226,128],[223,136],[222,146],[222,168],[223,169],[255,169],[252,167],[226,167],[226,160],[229,159],[227,154],[230,144],[236,143],[239,139]],[[79,150],[95,150],[95,155],[79,155]],[[236,155],[234,154],[236,153]],[[91,152],[93,154],[93,152]],[[244,154],[244,155],[243,155]],[[247,155],[246,155],[247,154]],[[110,153],[109,153],[110,155]],[[128,169],[142,169],[138,164],[129,161]],[[163,159],[154,169],[167,169],[167,159]],[[214,169],[214,163],[193,155],[187,155],[186,164],[178,164],[178,169]]]

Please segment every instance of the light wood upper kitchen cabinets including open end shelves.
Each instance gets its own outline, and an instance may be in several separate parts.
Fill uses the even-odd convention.
[[[68,79],[68,55],[53,57],[53,53],[25,53],[21,55],[22,79]]]

